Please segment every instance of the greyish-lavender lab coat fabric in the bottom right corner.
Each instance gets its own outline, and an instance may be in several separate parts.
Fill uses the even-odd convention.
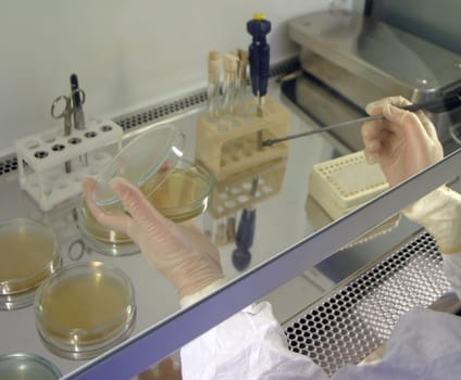
[[[381,362],[347,365],[332,380],[440,380],[461,373],[461,318],[416,308],[397,322]]]

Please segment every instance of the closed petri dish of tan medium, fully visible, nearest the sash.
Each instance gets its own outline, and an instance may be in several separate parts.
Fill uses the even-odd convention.
[[[48,350],[65,358],[89,359],[133,331],[134,288],[119,268],[99,262],[71,264],[39,287],[34,313]]]

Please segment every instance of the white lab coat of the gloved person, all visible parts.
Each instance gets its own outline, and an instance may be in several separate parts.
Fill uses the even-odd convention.
[[[460,194],[437,189],[406,215],[436,238],[445,274],[461,296]],[[194,297],[183,306],[191,301]],[[184,346],[180,355],[184,380],[327,379],[309,357],[287,349],[285,334],[265,302],[250,305],[209,330]],[[461,318],[415,309],[401,317],[381,362],[345,366],[334,380],[435,380],[459,378],[459,373]]]

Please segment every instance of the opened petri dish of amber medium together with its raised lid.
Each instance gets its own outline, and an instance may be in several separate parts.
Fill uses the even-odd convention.
[[[201,214],[211,202],[215,179],[204,166],[183,159],[184,145],[184,135],[171,124],[139,135],[97,177],[95,203],[108,212],[120,210],[108,183],[114,177],[123,177],[174,221]]]

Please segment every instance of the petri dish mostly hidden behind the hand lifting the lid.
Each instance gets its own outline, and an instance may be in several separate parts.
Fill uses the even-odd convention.
[[[91,215],[83,198],[76,207],[77,227],[85,242],[102,254],[111,256],[126,256],[139,253],[139,248],[123,232],[102,226]]]

